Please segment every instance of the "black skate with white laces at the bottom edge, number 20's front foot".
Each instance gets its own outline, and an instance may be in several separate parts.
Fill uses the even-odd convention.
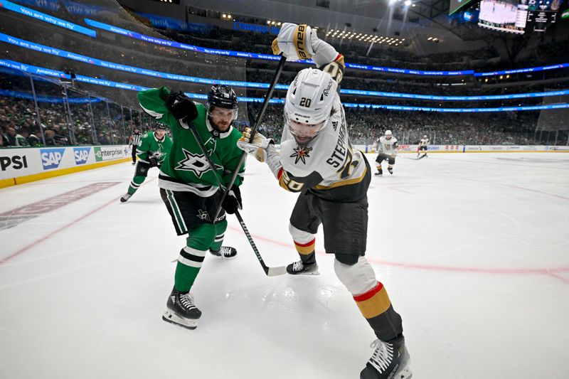
[[[379,339],[371,343],[373,351],[366,367],[361,370],[360,379],[410,379],[410,358],[405,348],[405,338],[389,342]]]

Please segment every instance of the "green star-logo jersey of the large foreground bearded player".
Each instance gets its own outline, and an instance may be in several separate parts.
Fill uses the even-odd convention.
[[[190,129],[183,127],[166,108],[170,90],[166,87],[152,88],[137,94],[142,109],[162,124],[171,128],[174,144],[160,168],[159,187],[171,191],[189,191],[198,196],[209,197],[218,191],[216,174],[203,155],[198,142]],[[206,107],[196,103],[198,117],[193,124],[198,129],[199,137],[206,146],[206,152],[216,166],[218,178],[227,184],[239,164],[241,151],[237,141],[241,133],[230,127],[227,132],[217,133],[211,126]],[[240,167],[235,185],[243,183],[245,164]]]

